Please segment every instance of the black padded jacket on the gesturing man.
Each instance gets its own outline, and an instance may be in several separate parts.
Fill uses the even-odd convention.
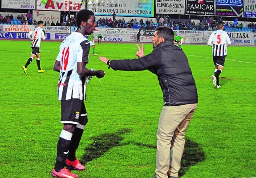
[[[150,54],[139,59],[111,60],[110,67],[121,71],[148,69],[156,74],[163,91],[164,105],[198,103],[195,80],[187,56],[171,41],[158,44]]]

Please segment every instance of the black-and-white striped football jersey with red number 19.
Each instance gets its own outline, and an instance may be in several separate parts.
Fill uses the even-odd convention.
[[[77,62],[88,63],[90,42],[81,33],[72,32],[60,46],[57,61],[61,63],[58,100],[85,100],[85,76],[78,75]]]

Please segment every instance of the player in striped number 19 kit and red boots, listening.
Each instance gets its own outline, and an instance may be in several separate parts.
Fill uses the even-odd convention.
[[[85,170],[85,166],[76,158],[76,150],[88,122],[84,104],[85,78],[102,78],[105,75],[104,71],[91,71],[86,68],[90,42],[85,35],[92,33],[96,27],[94,13],[85,9],[79,11],[76,23],[77,30],[61,43],[53,67],[53,70],[60,72],[57,90],[58,99],[61,101],[61,123],[64,126],[57,143],[57,157],[52,175],[60,178],[78,177],[69,168]]]

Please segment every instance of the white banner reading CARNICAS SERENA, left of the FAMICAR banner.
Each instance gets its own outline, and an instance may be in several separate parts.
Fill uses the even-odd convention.
[[[156,14],[185,14],[185,0],[156,0]]]

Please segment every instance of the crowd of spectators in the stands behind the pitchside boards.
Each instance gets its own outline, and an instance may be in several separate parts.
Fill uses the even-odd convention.
[[[76,26],[76,15],[77,12],[71,16],[70,11],[65,12],[64,15],[61,16],[61,22],[54,23],[53,21],[45,21],[45,26]],[[158,26],[169,26],[174,30],[216,30],[217,22],[223,21],[222,17],[206,17],[200,16],[199,22],[195,23],[195,21],[185,20],[185,19],[171,19],[169,15],[160,15],[158,14],[155,17],[156,23],[152,19],[147,19],[143,21],[143,19],[134,18],[130,21],[127,21],[124,18],[119,18],[117,20],[115,13],[112,14],[112,18],[99,18],[97,19],[98,27],[105,28],[139,28],[139,29],[155,29]],[[22,24],[22,25],[37,25],[37,21],[33,20],[32,14],[28,11],[26,15],[23,14],[14,17],[12,14],[7,16],[2,16],[0,14],[0,24]],[[225,30],[230,29],[242,29],[242,28],[252,29],[252,32],[256,32],[256,23],[251,22],[248,26],[244,26],[243,23],[238,22],[237,18],[234,19],[234,22],[226,22]]]

